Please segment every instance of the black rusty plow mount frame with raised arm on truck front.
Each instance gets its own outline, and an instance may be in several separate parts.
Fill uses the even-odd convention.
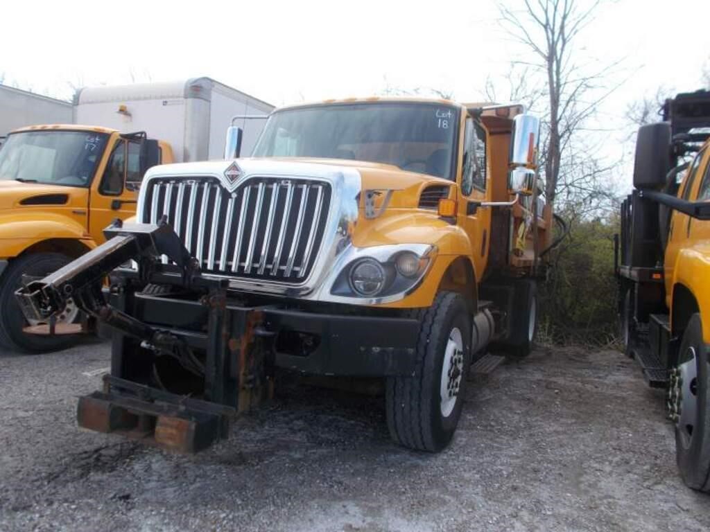
[[[228,281],[203,277],[197,260],[164,221],[125,226],[116,221],[104,234],[106,243],[16,292],[28,317],[50,319],[73,298],[82,311],[113,330],[111,375],[104,376],[102,391],[80,397],[79,426],[180,453],[197,453],[227,438],[230,421],[273,392],[273,381],[265,382],[260,309],[228,311]],[[161,256],[172,264],[161,262]],[[131,260],[137,270],[121,270]],[[204,327],[176,329],[141,319],[135,302],[151,282],[196,294],[190,306]],[[161,300],[163,305],[178,303],[169,296],[141,302],[164,308]],[[173,306],[170,314],[174,318],[180,312]],[[195,355],[198,351],[203,359]],[[163,355],[202,379],[202,389],[195,390],[201,399],[168,392],[159,379],[160,387],[153,386],[148,368],[155,371],[155,360]]]

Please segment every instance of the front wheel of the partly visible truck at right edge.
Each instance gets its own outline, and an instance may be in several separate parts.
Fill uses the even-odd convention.
[[[688,487],[706,493],[710,493],[709,373],[700,314],[693,314],[683,333],[675,376],[671,377],[669,403],[678,414],[674,422],[680,475]]]

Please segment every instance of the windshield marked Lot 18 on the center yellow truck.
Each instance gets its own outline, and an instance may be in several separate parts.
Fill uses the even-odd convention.
[[[454,179],[459,111],[424,103],[314,106],[274,113],[253,157],[329,157],[384,162]]]

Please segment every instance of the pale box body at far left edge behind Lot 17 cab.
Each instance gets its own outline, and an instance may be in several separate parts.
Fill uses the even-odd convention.
[[[10,131],[40,123],[72,123],[73,106],[32,92],[0,85],[0,145]]]

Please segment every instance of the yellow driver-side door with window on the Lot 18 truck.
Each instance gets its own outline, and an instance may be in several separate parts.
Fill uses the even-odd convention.
[[[464,155],[461,170],[461,198],[459,198],[459,224],[469,233],[474,249],[476,275],[481,275],[488,262],[490,245],[491,209],[472,211],[469,204],[474,201],[486,201],[488,188],[488,157],[486,153],[486,130],[483,126],[466,117],[464,130]]]

